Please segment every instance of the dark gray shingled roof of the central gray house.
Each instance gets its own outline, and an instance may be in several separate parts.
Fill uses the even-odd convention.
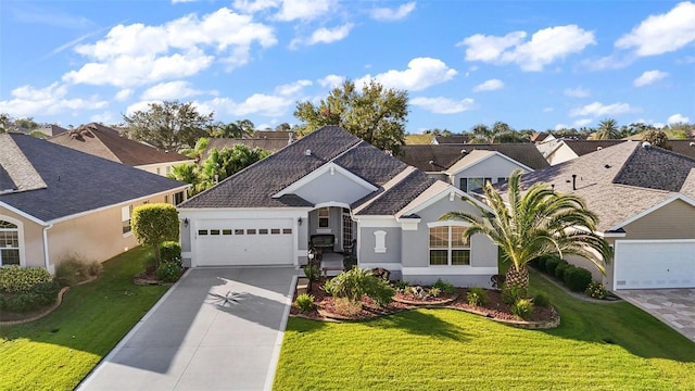
[[[433,182],[425,173],[416,171],[416,174],[384,189],[384,184],[408,166],[340,127],[326,126],[189,199],[179,207],[313,206],[295,194],[279,199],[273,195],[329,162],[379,188],[353,204],[356,207],[378,195],[361,214],[393,214]]]

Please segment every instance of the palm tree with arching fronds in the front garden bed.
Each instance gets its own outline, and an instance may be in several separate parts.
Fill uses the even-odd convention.
[[[598,217],[586,210],[573,194],[556,193],[547,184],[534,184],[521,194],[521,171],[509,177],[509,201],[489,182],[484,186],[491,212],[469,201],[480,213],[452,212],[440,219],[459,219],[470,224],[464,236],[486,235],[502,251],[503,262],[509,262],[505,289],[526,292],[529,272],[526,265],[540,256],[580,255],[593,262],[605,274],[603,263],[612,257],[612,249],[595,232]]]

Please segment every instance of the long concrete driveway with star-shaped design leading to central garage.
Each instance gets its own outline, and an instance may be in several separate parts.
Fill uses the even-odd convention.
[[[269,390],[296,274],[190,269],[78,390]],[[237,303],[211,294],[230,291]]]

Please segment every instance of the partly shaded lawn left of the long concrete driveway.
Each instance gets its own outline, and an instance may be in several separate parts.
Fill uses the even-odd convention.
[[[148,250],[104,263],[47,317],[0,329],[0,390],[72,390],[168,289],[136,286]]]

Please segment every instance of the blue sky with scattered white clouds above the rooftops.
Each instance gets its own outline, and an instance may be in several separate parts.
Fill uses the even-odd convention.
[[[407,131],[695,122],[695,2],[0,2],[0,112],[115,124],[149,102],[296,124],[344,78],[408,91]]]

